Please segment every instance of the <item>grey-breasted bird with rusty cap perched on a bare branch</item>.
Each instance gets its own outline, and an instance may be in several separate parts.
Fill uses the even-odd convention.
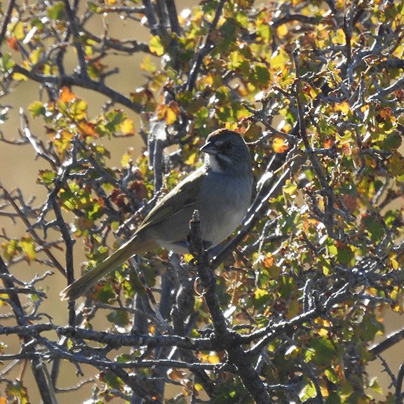
[[[189,221],[195,210],[209,248],[233,233],[247,213],[253,192],[248,146],[238,132],[221,128],[208,135],[200,152],[205,154],[203,166],[163,196],[126,243],[62,290],[62,299],[79,298],[133,255],[159,247],[188,253]]]

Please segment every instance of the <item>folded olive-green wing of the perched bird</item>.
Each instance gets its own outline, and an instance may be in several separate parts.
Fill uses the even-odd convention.
[[[206,170],[201,167],[188,175],[180,184],[177,184],[174,189],[161,198],[156,206],[150,210],[149,215],[144,218],[137,232],[151,224],[154,225],[163,222],[168,217],[176,215],[185,208],[194,205],[205,175]]]

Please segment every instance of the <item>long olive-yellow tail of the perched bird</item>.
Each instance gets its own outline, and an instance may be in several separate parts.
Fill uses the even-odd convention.
[[[62,290],[62,292],[60,292],[62,300],[77,299],[83,295],[88,289],[95,285],[97,281],[100,281],[102,277],[112,272],[116,267],[137,253],[136,245],[137,237],[131,238],[129,241],[122,244],[118,250],[114,251],[112,255],[109,255],[101,264],[90,269],[90,271],[86,272],[81,278],[76,279],[76,281]]]

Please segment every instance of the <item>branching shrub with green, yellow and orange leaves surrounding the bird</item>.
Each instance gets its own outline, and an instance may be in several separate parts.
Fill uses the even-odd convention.
[[[174,0],[82,3],[1,6],[1,94],[41,90],[20,112],[19,137],[1,141],[32,146],[47,197],[34,205],[19,184],[0,189],[0,335],[20,339],[20,351],[1,345],[0,360],[29,364],[44,403],[62,399],[67,363],[92,403],[373,403],[375,392],[402,403],[404,365],[384,363],[383,391],[367,365],[404,336],[384,335],[386,313],[404,309],[404,5],[206,0],[178,13]],[[119,38],[109,34],[116,15]],[[125,80],[116,55],[143,83],[115,89]],[[107,100],[100,114],[83,89]],[[2,123],[12,107],[1,105]],[[196,222],[194,259],[135,257],[80,309],[66,305],[67,323],[43,313],[51,271],[67,285],[77,250],[84,267],[105,259],[222,127],[250,145],[256,187],[215,257]],[[109,147],[135,134],[141,155],[128,150],[113,167]],[[20,237],[8,236],[15,222]],[[30,281],[21,262],[35,265]],[[25,378],[8,370],[1,402],[27,403]]]

